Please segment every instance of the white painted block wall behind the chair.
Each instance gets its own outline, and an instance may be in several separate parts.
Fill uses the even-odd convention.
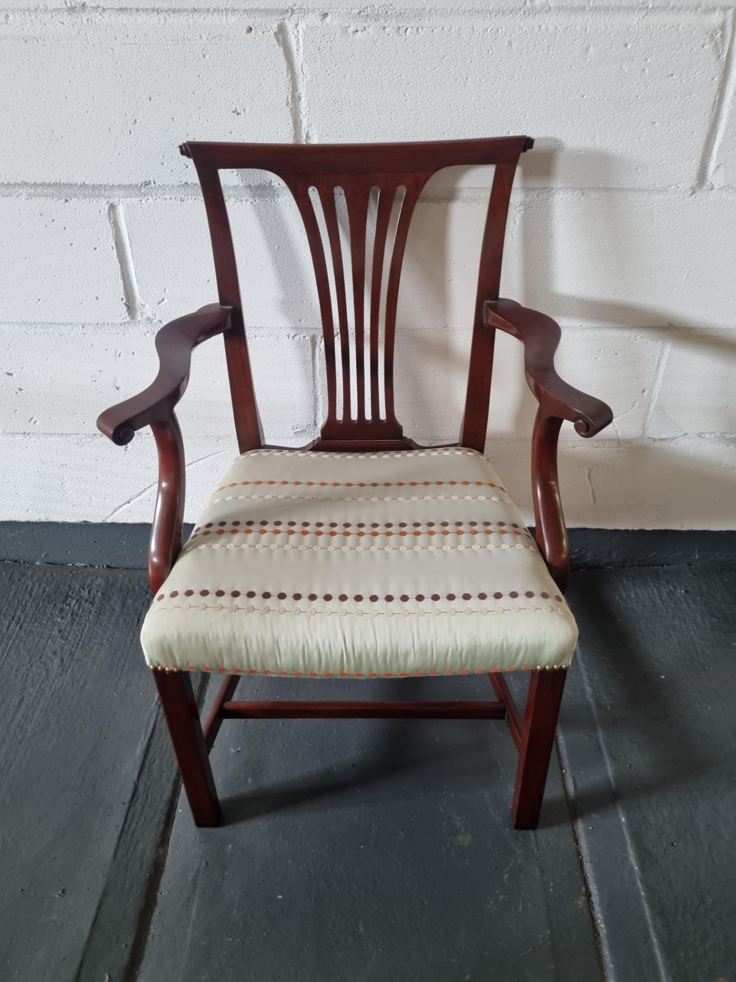
[[[616,413],[563,430],[569,522],[733,527],[736,0],[6,8],[0,518],[152,515],[150,435],[115,448],[94,420],[150,380],[162,323],[216,299],[180,142],[528,133],[503,292],[560,321],[560,372]],[[415,214],[396,401],[419,440],[457,435],[491,177],[443,172]],[[325,407],[304,233],[273,176],[224,178],[266,434],[299,445]],[[527,515],[534,410],[500,337],[488,450]],[[194,518],[236,453],[219,340],[180,417]]]

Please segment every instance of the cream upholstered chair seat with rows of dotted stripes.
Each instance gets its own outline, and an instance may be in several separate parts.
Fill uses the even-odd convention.
[[[145,619],[151,666],[317,678],[565,665],[577,628],[491,464],[258,450]]]

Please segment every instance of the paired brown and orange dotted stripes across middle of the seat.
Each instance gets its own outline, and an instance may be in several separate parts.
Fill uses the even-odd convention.
[[[233,527],[228,528],[228,524]],[[467,524],[468,527],[463,527]],[[493,528],[492,526],[496,524],[499,527]],[[366,536],[372,538],[378,538],[379,536],[385,536],[386,538],[392,538],[394,535],[399,538],[406,538],[408,536],[419,537],[422,535],[524,535],[526,538],[531,539],[531,534],[524,528],[520,529],[516,522],[511,522],[510,527],[506,528],[505,521],[469,521],[467,523],[462,521],[427,521],[422,526],[422,522],[413,521],[409,524],[406,521],[392,522],[387,521],[383,523],[384,531],[379,531],[381,524],[377,521],[370,523],[364,521],[358,521],[354,524],[349,521],[343,521],[339,523],[337,521],[274,521],[271,522],[272,527],[269,526],[269,522],[265,519],[262,521],[254,521],[252,518],[247,521],[218,521],[217,526],[215,522],[208,521],[205,525],[197,525],[190,536],[191,539],[196,539],[200,535],[237,535],[242,533],[245,535],[252,535],[257,533],[259,535],[314,535],[316,537],[327,535],[331,538],[350,538],[355,536],[357,538],[365,538]],[[355,529],[353,531],[352,529]]]

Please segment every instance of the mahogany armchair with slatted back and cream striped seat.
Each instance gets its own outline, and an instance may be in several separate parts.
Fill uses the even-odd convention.
[[[443,718],[506,721],[519,752],[514,827],[537,827],[577,638],[562,598],[570,556],[557,439],[564,420],[592,437],[612,414],[557,375],[560,332],[552,318],[499,299],[511,185],[520,154],[532,145],[527,136],[504,136],[181,147],[201,184],[220,302],[166,324],[156,337],[155,381],[105,410],[97,425],[120,446],[144,426],[156,441],[158,496],[148,553],[154,601],[141,639],[198,826],[221,820],[209,751],[226,719]],[[483,164],[495,171],[459,440],[420,447],[394,415],[396,303],[409,223],[435,172]],[[299,450],[263,443],[219,177],[227,168],[275,173],[304,223],[323,321],[328,412],[320,438]],[[346,246],[336,203],[342,195]],[[536,545],[484,456],[499,330],[524,345],[526,378],[539,405],[532,439]],[[240,456],[183,547],[184,445],[175,409],[193,349],[215,335],[225,343]],[[204,725],[192,671],[224,676]],[[529,677],[523,713],[504,678],[514,671]],[[234,698],[242,675],[481,674],[496,701]]]

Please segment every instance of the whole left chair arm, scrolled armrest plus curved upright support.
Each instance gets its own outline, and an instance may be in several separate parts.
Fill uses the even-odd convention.
[[[154,593],[171,572],[182,549],[184,522],[184,441],[174,408],[189,380],[197,345],[230,326],[231,307],[211,303],[166,324],[156,335],[159,370],[143,392],[113,406],[97,419],[98,429],[125,446],[135,430],[150,426],[158,451],[158,493],[148,544],[148,582]]]

